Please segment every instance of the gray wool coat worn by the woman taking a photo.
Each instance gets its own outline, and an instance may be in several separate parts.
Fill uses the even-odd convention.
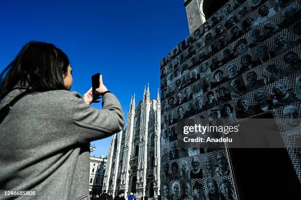
[[[0,108],[20,92],[12,90]],[[90,142],[123,126],[112,93],[104,94],[102,110],[67,90],[26,95],[0,124],[0,189],[33,190],[30,199],[88,200]]]

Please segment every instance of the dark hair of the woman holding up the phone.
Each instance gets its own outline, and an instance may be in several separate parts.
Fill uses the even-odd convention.
[[[0,99],[14,87],[34,91],[67,89],[63,74],[69,59],[65,53],[50,43],[29,42],[0,74]]]

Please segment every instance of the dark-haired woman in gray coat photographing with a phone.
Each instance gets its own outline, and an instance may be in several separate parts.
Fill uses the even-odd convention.
[[[71,74],[68,57],[43,42],[26,44],[0,74],[0,108],[30,92],[1,123],[1,189],[32,190],[35,199],[89,198],[90,142],[122,130],[124,116],[102,76],[98,110],[90,107],[92,88],[84,97],[70,91]]]

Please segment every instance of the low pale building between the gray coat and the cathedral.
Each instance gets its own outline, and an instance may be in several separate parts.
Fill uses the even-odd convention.
[[[107,157],[90,156],[90,182],[89,191],[93,196],[100,194],[103,186],[103,178],[107,166]]]

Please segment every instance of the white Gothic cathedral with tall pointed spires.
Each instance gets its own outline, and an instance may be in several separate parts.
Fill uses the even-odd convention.
[[[125,130],[112,137],[103,189],[137,199],[160,195],[160,126],[159,91],[150,99],[148,86],[137,106],[135,95],[131,100]]]

